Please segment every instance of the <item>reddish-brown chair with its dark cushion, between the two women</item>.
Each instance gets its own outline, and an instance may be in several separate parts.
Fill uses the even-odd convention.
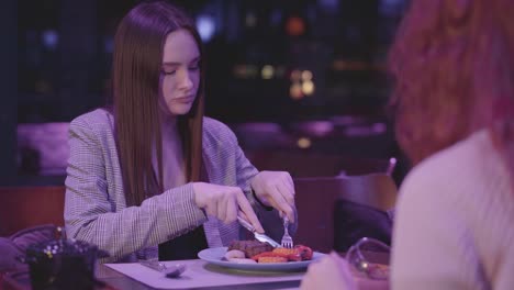
[[[386,174],[295,178],[299,228],[295,244],[345,252],[361,236],[389,243],[396,186]]]

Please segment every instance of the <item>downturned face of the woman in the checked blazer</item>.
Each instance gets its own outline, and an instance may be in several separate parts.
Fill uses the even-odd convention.
[[[187,114],[197,98],[200,82],[200,52],[186,30],[174,31],[166,37],[160,76],[159,103],[167,115]]]

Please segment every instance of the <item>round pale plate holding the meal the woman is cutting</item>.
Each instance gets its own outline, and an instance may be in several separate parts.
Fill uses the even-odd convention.
[[[297,271],[304,269],[313,260],[320,259],[325,254],[314,252],[312,255],[312,260],[302,260],[302,261],[288,261],[288,263],[255,263],[255,264],[238,264],[234,261],[225,260],[225,253],[227,247],[215,247],[215,248],[205,248],[198,253],[198,257],[208,263],[232,268],[238,270],[250,270],[250,271]]]

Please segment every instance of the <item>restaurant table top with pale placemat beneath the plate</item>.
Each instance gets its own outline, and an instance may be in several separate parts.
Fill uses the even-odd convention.
[[[299,289],[304,271],[300,272],[250,272],[238,271],[208,264],[204,260],[181,260],[176,263],[186,264],[187,270],[181,278],[164,278],[166,281],[155,281],[155,285],[163,287],[150,287],[144,282],[137,281],[133,277],[126,276],[112,269],[112,265],[99,265],[96,269],[96,277],[105,285],[98,285],[94,289],[212,289],[212,290],[247,290],[247,289]],[[141,277],[149,277],[156,272],[138,264],[119,264],[114,265],[119,269],[130,272],[146,272]],[[141,268],[138,268],[141,267]],[[154,272],[152,272],[154,271]],[[160,275],[160,274],[159,274]],[[133,275],[131,275],[133,276]],[[354,271],[360,290],[387,290],[389,289],[386,280],[369,280],[362,274]],[[141,278],[138,277],[138,278]],[[165,282],[165,283],[163,283]],[[25,272],[11,272],[4,276],[3,287],[5,290],[30,290],[30,277]]]

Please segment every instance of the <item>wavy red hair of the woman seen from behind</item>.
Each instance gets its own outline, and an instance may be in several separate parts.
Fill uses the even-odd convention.
[[[514,156],[513,15],[511,0],[412,1],[389,67],[396,138],[414,165],[499,121]]]

